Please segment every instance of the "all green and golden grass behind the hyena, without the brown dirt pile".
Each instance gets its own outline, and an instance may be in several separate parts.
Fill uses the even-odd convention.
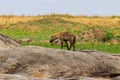
[[[49,43],[50,36],[56,32],[67,30],[75,35],[93,27],[101,27],[120,37],[120,18],[83,17],[69,15],[46,16],[0,16],[0,32],[13,39],[32,38],[30,45],[59,48]],[[28,44],[23,44],[28,45]],[[120,44],[108,45],[104,43],[76,43],[78,50],[91,49],[110,53],[120,53]]]

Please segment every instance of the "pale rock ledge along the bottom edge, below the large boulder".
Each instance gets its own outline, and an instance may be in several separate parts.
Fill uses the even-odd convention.
[[[12,74],[0,74],[0,80],[110,80],[110,79],[90,78],[90,77],[50,79],[50,78],[27,77],[27,76],[12,75]]]

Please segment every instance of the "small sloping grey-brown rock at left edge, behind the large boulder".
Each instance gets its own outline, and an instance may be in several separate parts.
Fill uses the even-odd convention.
[[[20,45],[12,40],[9,36],[0,34],[0,51],[18,46]]]

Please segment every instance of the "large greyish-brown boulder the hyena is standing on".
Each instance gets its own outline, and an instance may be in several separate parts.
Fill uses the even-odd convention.
[[[0,51],[0,73],[51,79],[111,78],[120,75],[120,57],[98,51],[23,46]]]

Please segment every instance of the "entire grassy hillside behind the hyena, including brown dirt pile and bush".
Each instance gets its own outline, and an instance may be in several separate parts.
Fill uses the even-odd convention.
[[[21,42],[22,45],[60,48],[59,45],[50,44],[49,39],[54,33],[63,30],[77,36],[77,50],[120,53],[120,16],[0,16],[0,33],[16,41],[31,39],[30,42]]]

